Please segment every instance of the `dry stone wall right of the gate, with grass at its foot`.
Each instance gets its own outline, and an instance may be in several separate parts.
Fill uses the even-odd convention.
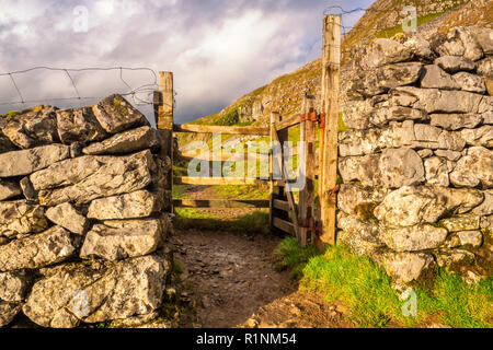
[[[337,240],[397,285],[491,275],[493,30],[376,39],[344,93]]]

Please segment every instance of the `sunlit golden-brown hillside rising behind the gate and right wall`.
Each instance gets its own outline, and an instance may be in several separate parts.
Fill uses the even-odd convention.
[[[457,25],[492,26],[493,1],[491,0],[378,0],[366,11],[356,25],[343,37],[343,62],[347,63],[359,45],[377,37],[392,37],[402,32],[401,14],[404,5],[415,5],[417,24],[423,35]],[[344,21],[344,18],[343,18]],[[344,24],[344,23],[343,23]],[[343,71],[347,67],[343,67]],[[219,112],[191,124],[203,125],[266,125],[271,112],[289,116],[299,110],[305,92],[320,93],[321,59],[309,62],[293,73],[279,77]],[[318,107],[318,106],[317,106]],[[179,136],[181,145],[192,136]]]

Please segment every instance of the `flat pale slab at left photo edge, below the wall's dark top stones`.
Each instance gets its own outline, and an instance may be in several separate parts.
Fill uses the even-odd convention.
[[[0,177],[28,175],[70,156],[69,148],[48,144],[0,154]]]

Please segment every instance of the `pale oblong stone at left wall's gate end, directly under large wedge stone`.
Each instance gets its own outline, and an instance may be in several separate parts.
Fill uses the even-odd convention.
[[[88,218],[98,220],[147,218],[161,210],[162,197],[162,194],[138,190],[122,196],[95,199],[89,206]]]

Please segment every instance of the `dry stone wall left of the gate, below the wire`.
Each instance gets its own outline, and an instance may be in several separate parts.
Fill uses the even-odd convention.
[[[121,95],[0,116],[0,327],[156,313],[172,266],[161,144]]]

